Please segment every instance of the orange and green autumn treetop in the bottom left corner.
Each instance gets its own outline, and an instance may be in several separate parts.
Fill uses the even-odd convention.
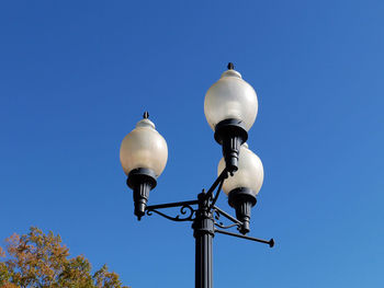
[[[92,274],[82,255],[69,257],[69,249],[53,232],[33,227],[5,243],[0,246],[0,288],[127,288],[105,265]]]

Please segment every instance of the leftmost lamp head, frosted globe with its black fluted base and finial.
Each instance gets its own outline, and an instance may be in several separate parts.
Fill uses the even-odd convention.
[[[138,220],[145,214],[149,192],[155,188],[167,159],[167,142],[155,129],[155,124],[148,119],[146,112],[144,119],[125,136],[120,148],[120,161],[128,176],[127,185],[134,191],[135,215]]]

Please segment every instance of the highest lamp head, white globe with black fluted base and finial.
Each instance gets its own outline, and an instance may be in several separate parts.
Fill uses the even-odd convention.
[[[228,70],[206,92],[204,113],[216,141],[223,146],[228,172],[237,171],[239,149],[255,123],[258,99],[233,64],[228,64]]]

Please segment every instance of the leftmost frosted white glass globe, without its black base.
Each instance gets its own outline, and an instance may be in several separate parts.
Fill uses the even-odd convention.
[[[167,142],[147,118],[136,124],[136,128],[124,137],[120,148],[120,162],[126,175],[134,169],[145,168],[159,176],[167,159]]]

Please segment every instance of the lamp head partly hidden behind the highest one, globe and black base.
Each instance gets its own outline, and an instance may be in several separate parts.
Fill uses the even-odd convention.
[[[246,234],[249,232],[250,210],[256,205],[256,196],[258,195],[264,171],[261,160],[248,149],[248,145],[240,147],[237,172],[224,181],[223,191],[228,195],[229,206],[235,208],[236,218],[242,222],[240,232]],[[218,175],[225,169],[224,158],[219,161]]]

